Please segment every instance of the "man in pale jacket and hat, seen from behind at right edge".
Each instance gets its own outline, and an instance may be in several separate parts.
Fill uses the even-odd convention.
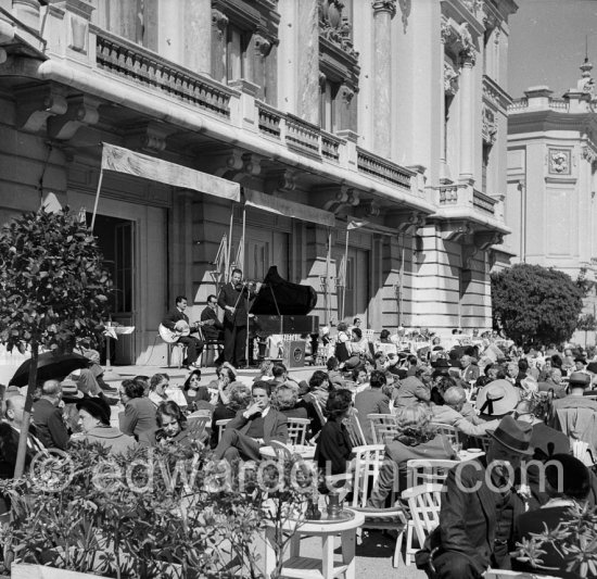
[[[589,444],[589,452],[597,457],[597,401],[586,398],[590,376],[573,372],[568,380],[569,394],[554,401],[549,426],[564,435]]]

